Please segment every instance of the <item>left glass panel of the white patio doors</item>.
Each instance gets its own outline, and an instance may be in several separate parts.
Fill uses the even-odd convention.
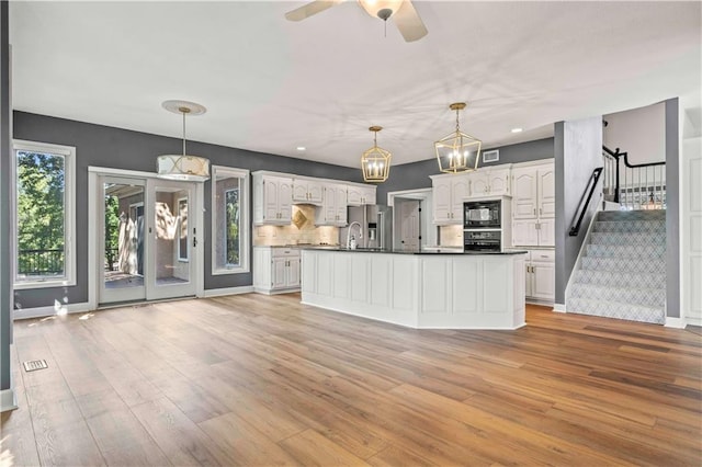
[[[145,181],[109,176],[101,181],[100,303],[144,299]]]

